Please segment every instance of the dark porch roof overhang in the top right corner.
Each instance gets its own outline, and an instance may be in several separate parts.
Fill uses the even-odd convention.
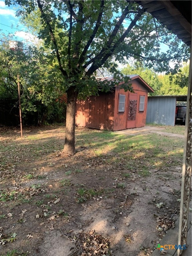
[[[192,1],[136,0],[144,10],[171,30],[188,46],[191,45]]]

